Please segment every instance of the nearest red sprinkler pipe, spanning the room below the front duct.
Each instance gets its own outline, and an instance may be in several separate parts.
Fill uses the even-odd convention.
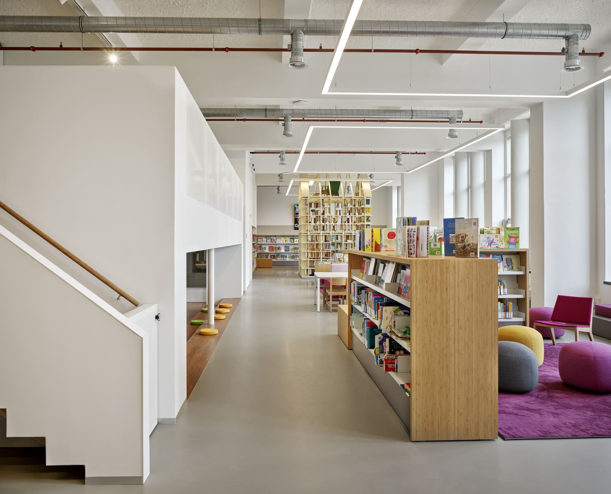
[[[288,48],[209,48],[200,46],[0,46],[0,50],[4,51],[218,51],[229,53],[230,51],[245,51],[245,52],[286,52],[290,53]],[[332,53],[333,48],[304,48],[304,52],[309,53]],[[561,56],[565,54],[560,51],[491,51],[491,50],[425,50],[420,48],[415,49],[391,49],[391,48],[346,48],[345,53],[420,53],[429,54],[446,54],[446,55],[535,55],[543,57]],[[580,57],[602,57],[604,51],[579,53]]]

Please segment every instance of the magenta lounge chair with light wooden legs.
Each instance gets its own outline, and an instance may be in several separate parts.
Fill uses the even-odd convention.
[[[594,299],[590,297],[570,297],[558,295],[554,305],[554,312],[549,321],[535,321],[533,329],[549,328],[552,335],[552,344],[556,344],[554,328],[571,329],[575,332],[575,341],[579,341],[579,331],[588,334],[590,341],[592,338],[592,304]]]

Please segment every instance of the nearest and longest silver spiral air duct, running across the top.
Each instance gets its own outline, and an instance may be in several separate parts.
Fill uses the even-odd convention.
[[[103,17],[2,15],[0,32],[254,34],[291,36],[338,36],[343,19],[259,19],[205,17]],[[485,23],[455,21],[357,20],[351,36],[412,36],[439,38],[565,39],[585,40],[590,24]]]

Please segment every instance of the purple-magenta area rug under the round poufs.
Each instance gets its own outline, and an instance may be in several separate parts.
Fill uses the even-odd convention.
[[[611,437],[611,393],[579,391],[562,382],[558,374],[562,346],[544,345],[539,385],[534,391],[499,393],[499,435],[503,439]]]

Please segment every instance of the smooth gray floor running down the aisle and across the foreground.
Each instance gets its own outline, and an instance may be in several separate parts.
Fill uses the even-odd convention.
[[[145,485],[0,467],[0,492],[609,492],[611,439],[411,443],[312,302],[295,268],[257,271],[178,424],[153,432]]]

